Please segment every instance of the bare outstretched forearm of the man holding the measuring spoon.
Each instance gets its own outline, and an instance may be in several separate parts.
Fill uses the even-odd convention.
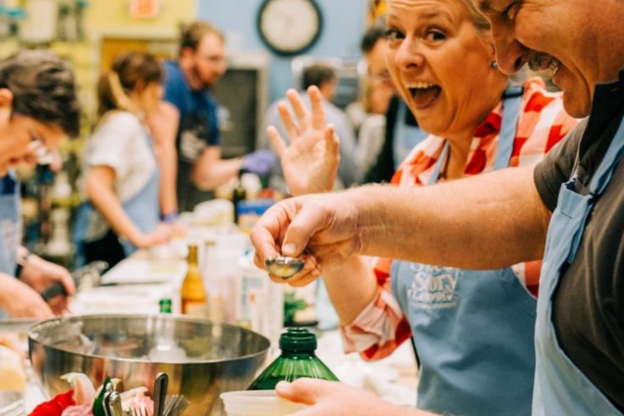
[[[344,195],[358,209],[361,254],[499,268],[544,252],[549,213],[531,168],[435,187],[362,187]]]

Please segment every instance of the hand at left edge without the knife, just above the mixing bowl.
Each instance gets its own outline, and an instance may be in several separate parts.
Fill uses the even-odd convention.
[[[53,318],[52,309],[33,288],[0,273],[0,309],[11,318]]]

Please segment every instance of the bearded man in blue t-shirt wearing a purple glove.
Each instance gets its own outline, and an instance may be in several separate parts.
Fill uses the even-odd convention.
[[[225,73],[225,45],[218,28],[196,21],[182,31],[177,61],[165,62],[164,99],[179,112],[177,122],[177,201],[182,211],[211,198],[212,189],[240,171],[266,176],[275,155],[259,150],[237,159],[221,159],[217,103],[210,93]],[[165,219],[173,213],[163,213]]]

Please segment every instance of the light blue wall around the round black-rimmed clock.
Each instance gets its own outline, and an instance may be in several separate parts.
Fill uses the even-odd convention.
[[[316,0],[323,15],[320,38],[305,55],[347,57],[360,55],[366,0]],[[263,0],[197,0],[198,19],[218,26],[228,42],[241,51],[268,51],[256,28],[257,12]],[[293,86],[291,59],[272,55],[269,74],[270,101],[284,96]]]

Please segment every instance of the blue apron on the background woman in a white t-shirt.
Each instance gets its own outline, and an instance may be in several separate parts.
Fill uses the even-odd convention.
[[[154,145],[152,139],[146,134],[145,137],[152,155],[155,157]],[[150,179],[144,187],[137,192],[132,198],[121,203],[123,211],[132,220],[132,223],[144,234],[153,232],[159,224],[160,208],[159,208],[159,172],[158,164],[155,162],[154,173],[150,176]],[[76,257],[77,263],[84,263],[82,256],[83,243],[87,242],[85,235],[87,227],[92,220],[92,217],[96,215],[96,209],[91,202],[84,202],[78,208],[76,214],[76,223],[74,224],[73,241],[76,243]],[[137,251],[137,248],[125,239],[119,241],[123,247],[123,252],[126,256],[130,256],[133,252]]]

